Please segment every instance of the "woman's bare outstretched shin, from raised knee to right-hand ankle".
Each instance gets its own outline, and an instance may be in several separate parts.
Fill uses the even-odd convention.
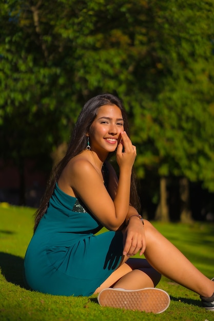
[[[147,220],[145,220],[144,226],[146,236],[146,250],[144,255],[150,265],[180,285],[202,296],[211,296],[214,292],[214,282],[194,267],[189,260]]]

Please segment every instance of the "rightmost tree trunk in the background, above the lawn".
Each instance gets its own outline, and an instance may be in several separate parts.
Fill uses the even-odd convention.
[[[186,177],[180,179],[180,198],[181,198],[181,222],[193,222],[192,214],[189,206],[189,182]]]

